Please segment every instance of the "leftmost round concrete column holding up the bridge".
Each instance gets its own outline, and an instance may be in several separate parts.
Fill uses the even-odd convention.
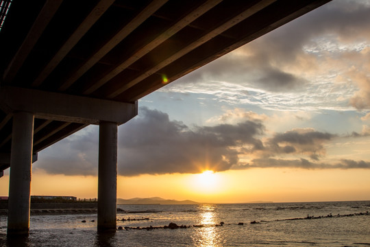
[[[10,154],[8,235],[29,232],[33,138],[34,115],[26,112],[14,113]]]

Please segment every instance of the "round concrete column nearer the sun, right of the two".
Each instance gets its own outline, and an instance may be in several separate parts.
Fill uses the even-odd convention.
[[[116,229],[117,200],[116,123],[103,121],[99,127],[98,231]]]

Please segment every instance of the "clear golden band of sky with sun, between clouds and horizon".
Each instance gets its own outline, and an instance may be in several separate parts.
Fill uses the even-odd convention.
[[[306,202],[369,200],[370,172],[327,169],[249,169],[208,174],[119,176],[118,198],[159,196],[174,200],[210,203],[254,201]],[[32,195],[97,198],[96,176],[36,173]],[[8,194],[8,176],[0,179],[0,195]]]

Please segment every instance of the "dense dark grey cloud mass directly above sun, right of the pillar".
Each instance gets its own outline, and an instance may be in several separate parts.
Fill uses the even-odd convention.
[[[190,130],[166,113],[140,108],[140,117],[120,128],[119,174],[197,173],[230,169],[238,163],[233,147],[250,144],[262,147],[256,135],[260,122],[245,121],[235,126],[221,124]]]

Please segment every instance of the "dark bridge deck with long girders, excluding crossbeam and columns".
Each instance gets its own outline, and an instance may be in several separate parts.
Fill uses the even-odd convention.
[[[135,102],[328,1],[13,1],[1,86]],[[10,154],[12,113],[0,108],[0,154]],[[36,115],[34,153],[87,125]]]

